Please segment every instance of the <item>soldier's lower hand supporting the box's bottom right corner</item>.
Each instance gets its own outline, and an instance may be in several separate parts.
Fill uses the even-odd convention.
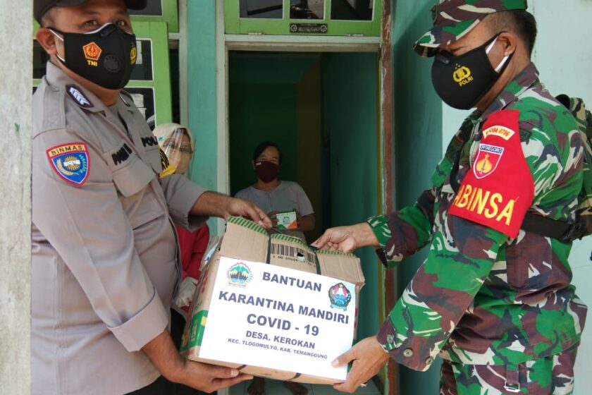
[[[388,360],[388,353],[383,350],[375,336],[359,341],[350,351],[338,356],[332,363],[334,367],[352,362],[352,369],[347,373],[345,382],[335,384],[333,388],[342,392],[354,392],[371,379]]]

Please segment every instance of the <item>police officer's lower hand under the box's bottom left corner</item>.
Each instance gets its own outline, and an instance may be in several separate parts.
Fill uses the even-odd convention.
[[[209,393],[252,378],[251,375],[242,375],[238,370],[230,367],[185,360],[183,376],[178,382]]]

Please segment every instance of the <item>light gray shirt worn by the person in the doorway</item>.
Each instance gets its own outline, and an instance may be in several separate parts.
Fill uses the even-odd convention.
[[[269,192],[249,186],[239,190],[235,196],[253,202],[266,213],[295,210],[300,217],[314,214],[314,209],[312,209],[307,194],[300,185],[293,181],[280,181],[280,185]],[[306,241],[302,231],[282,231],[281,233],[296,236]]]

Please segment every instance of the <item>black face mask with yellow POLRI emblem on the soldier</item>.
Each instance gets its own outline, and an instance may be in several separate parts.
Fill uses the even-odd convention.
[[[432,66],[433,87],[450,107],[462,110],[475,107],[500,78],[514,55],[505,56],[496,68],[491,66],[487,54],[500,34],[466,54],[453,56],[447,51],[436,54]]]

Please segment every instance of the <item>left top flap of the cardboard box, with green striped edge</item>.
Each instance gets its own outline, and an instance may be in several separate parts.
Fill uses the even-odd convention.
[[[228,218],[226,233],[220,246],[221,255],[252,262],[266,262],[268,248],[269,236],[262,226],[245,218]]]

